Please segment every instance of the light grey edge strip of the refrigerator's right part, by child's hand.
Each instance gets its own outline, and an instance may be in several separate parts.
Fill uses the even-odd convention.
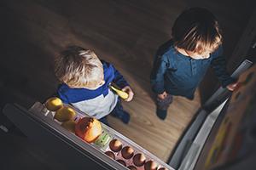
[[[253,63],[245,59],[231,77],[239,77],[251,65]],[[193,169],[195,167],[195,162],[200,156],[201,147],[205,144],[218,116],[221,115],[220,111],[224,108],[224,104],[230,95],[231,92],[226,88],[218,88],[195,114],[194,120],[187,127],[182,138],[177,142],[176,148],[172,151],[169,161],[170,166],[175,169]],[[206,122],[210,123],[207,124]],[[201,137],[203,138],[201,139]]]

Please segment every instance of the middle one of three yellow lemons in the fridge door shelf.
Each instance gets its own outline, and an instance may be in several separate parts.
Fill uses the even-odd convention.
[[[57,110],[55,113],[55,119],[60,122],[73,120],[74,116],[76,116],[76,112],[68,106],[61,107],[61,109]]]

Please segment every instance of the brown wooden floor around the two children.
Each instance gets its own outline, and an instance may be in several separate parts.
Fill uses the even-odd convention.
[[[109,117],[113,128],[155,156],[167,161],[201,101],[216,88],[212,73],[195,99],[175,97],[165,121],[155,115],[149,73],[156,48],[170,39],[172,24],[184,9],[209,8],[220,20],[228,58],[253,10],[253,0],[228,1],[3,1],[3,45],[0,64],[1,105],[17,102],[29,107],[55,92],[54,55],[70,44],[90,48],[113,63],[130,82],[135,98],[124,102],[131,113],[125,125]],[[230,5],[230,3],[233,3]],[[237,13],[236,11],[240,11]],[[232,69],[232,68],[231,68]],[[11,139],[10,139],[11,140]],[[15,152],[15,150],[14,150]],[[15,153],[14,153],[15,154]]]

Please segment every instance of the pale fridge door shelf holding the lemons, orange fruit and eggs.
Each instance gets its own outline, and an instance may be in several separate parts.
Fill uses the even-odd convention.
[[[79,118],[87,116],[86,114],[84,114],[84,112],[79,111],[78,109],[74,108],[72,105],[68,105],[69,107],[72,107],[75,111],[76,111],[76,120],[79,120]],[[52,111],[48,111],[44,104],[41,104],[39,102],[36,102],[34,105],[32,105],[32,107],[29,110],[33,115],[36,115],[39,117],[39,119],[41,119],[42,121],[44,121],[46,124],[50,125],[49,122],[56,122],[55,126],[58,127],[57,130],[59,130],[60,133],[70,133],[68,132],[65,128],[61,127],[60,124],[61,122],[56,121],[55,119],[53,119],[55,112]],[[55,127],[52,127],[55,129]],[[56,129],[55,129],[56,130]],[[106,151],[112,151],[109,148],[109,142],[112,139],[118,139],[121,143],[122,143],[122,148],[124,148],[125,146],[130,146],[133,150],[134,150],[134,155],[136,155],[137,153],[143,153],[144,156],[146,157],[146,161],[149,160],[153,160],[155,162],[158,163],[159,168],[160,167],[166,167],[169,170],[172,170],[173,168],[170,167],[169,165],[167,165],[164,161],[161,161],[158,157],[154,156],[153,154],[151,154],[148,150],[143,149],[143,147],[141,147],[140,145],[136,144],[135,142],[131,141],[131,139],[126,138],[124,135],[122,135],[121,133],[113,130],[113,128],[108,127],[107,125],[105,125],[104,123],[102,123],[102,131],[105,131],[106,133],[108,133],[110,135],[110,138],[108,140],[108,143],[105,144],[105,147],[100,147],[99,145],[96,145],[94,143],[89,144],[86,143],[84,140],[79,139],[79,137],[77,137],[76,135],[73,134],[74,138],[77,138],[81,141],[83,141],[84,145],[88,145],[91,148],[94,148],[94,150],[97,150],[98,152],[100,152],[102,155],[105,155],[104,153]],[[119,152],[113,152],[114,156],[115,156],[115,160],[123,160],[126,163],[126,166],[134,166],[133,162],[132,162],[132,158],[129,160],[125,160],[125,158],[123,158],[122,154],[121,154],[121,150]],[[109,158],[111,159],[111,158]],[[144,169],[144,167],[137,167],[138,170],[140,169]]]

